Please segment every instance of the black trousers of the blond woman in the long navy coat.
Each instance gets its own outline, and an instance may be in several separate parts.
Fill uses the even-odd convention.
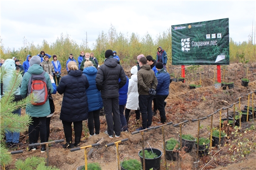
[[[66,142],[72,142],[72,123],[74,125],[75,138],[80,139],[82,136],[82,121],[67,122],[67,121],[62,120],[64,134],[66,137]],[[80,142],[80,141],[78,141],[78,142]]]

